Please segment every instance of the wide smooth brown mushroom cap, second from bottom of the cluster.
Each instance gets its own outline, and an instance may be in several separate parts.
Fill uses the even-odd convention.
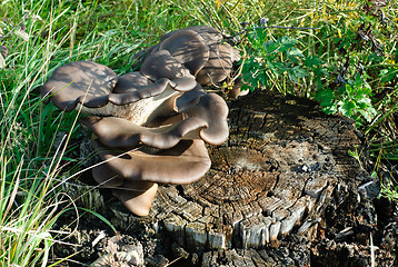
[[[150,154],[143,149],[116,151],[94,140],[96,150],[108,167],[128,180],[190,184],[200,179],[211,161],[202,140],[181,140],[172,148]]]

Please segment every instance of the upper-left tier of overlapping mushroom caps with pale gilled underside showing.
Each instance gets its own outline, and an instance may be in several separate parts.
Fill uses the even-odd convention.
[[[159,59],[158,56],[155,55],[149,61]],[[161,63],[168,65],[169,61]],[[170,66],[160,66],[160,69],[171,68]],[[178,70],[169,71],[168,75],[173,80],[162,78],[161,75],[166,72],[152,75],[150,79],[139,71],[118,78],[111,69],[99,63],[70,62],[56,69],[41,91],[43,97],[49,97],[64,111],[79,109],[82,105],[82,112],[86,115],[115,116],[142,125],[151,119],[149,116],[153,110],[159,108],[161,112],[163,105],[168,107],[173,102],[172,98],[197,86],[185,67],[178,63],[173,68]],[[149,72],[156,71],[149,69]]]

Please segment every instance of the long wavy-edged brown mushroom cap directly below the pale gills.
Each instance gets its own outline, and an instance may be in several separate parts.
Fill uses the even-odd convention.
[[[82,118],[80,122],[87,126],[100,140],[111,148],[133,148],[147,145],[158,149],[176,146],[181,139],[199,138],[199,131],[208,127],[200,118],[188,118],[173,125],[158,128],[147,128],[115,117]]]

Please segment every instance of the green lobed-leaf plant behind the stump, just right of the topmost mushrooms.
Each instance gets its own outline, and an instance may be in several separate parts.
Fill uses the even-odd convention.
[[[282,36],[273,40],[268,27],[263,26],[263,19],[261,22],[260,27],[247,29],[247,55],[240,62],[242,90],[252,91],[259,86],[272,88],[272,85],[279,85],[278,89],[286,93],[287,80],[299,85],[300,80],[310,75],[320,86],[321,78],[328,75],[322,67],[324,61],[317,56],[305,56],[296,38]]]

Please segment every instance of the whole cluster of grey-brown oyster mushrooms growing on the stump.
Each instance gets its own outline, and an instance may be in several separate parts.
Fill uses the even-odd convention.
[[[230,77],[239,59],[210,27],[190,27],[162,36],[136,55],[139,71],[118,77],[110,68],[76,61],[57,68],[42,97],[59,109],[81,110],[103,164],[93,178],[138,216],[147,216],[158,182],[189,184],[211,161],[205,142],[228,138],[228,107],[201,86]]]

